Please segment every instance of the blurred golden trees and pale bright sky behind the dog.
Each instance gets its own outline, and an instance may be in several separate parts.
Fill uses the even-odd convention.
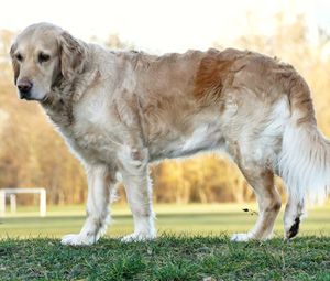
[[[306,78],[319,128],[330,136],[330,1],[3,1],[0,188],[43,186],[48,205],[72,206],[86,201],[87,184],[78,161],[41,107],[19,100],[13,85],[11,42],[25,26],[41,21],[55,23],[79,39],[110,48],[161,55],[188,48],[237,47],[276,56],[293,64]],[[156,203],[254,202],[245,180],[226,158],[208,154],[184,161],[166,160],[151,170]],[[279,179],[277,184],[282,186]],[[122,202],[122,188],[120,193]],[[18,196],[19,205],[37,202],[32,195]],[[330,224],[329,219],[326,223]]]

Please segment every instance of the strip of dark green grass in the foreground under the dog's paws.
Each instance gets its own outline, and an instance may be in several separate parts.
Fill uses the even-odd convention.
[[[1,280],[330,280],[329,237],[233,244],[162,236],[151,242],[101,239],[65,247],[56,239],[6,239]],[[212,280],[212,279],[211,279]]]

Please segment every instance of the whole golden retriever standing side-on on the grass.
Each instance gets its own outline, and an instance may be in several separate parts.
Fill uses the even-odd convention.
[[[330,144],[289,64],[234,48],[114,52],[50,23],[28,26],[10,55],[19,97],[40,102],[87,173],[87,218],[64,245],[105,234],[119,181],[134,219],[122,241],[154,239],[148,163],[202,151],[227,152],[256,195],[257,221],[233,241],[272,237],[282,206],[275,174],[287,186],[286,238],[298,234],[307,199],[329,194]]]

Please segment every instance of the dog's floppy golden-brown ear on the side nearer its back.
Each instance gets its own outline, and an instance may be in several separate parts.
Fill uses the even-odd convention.
[[[59,37],[59,53],[61,72],[66,80],[72,80],[82,73],[86,47],[66,31]]]

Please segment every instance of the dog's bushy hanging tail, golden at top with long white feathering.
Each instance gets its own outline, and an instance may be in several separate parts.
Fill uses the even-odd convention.
[[[322,203],[330,192],[330,141],[317,128],[310,90],[299,75],[290,80],[288,99],[279,175],[297,202]]]

